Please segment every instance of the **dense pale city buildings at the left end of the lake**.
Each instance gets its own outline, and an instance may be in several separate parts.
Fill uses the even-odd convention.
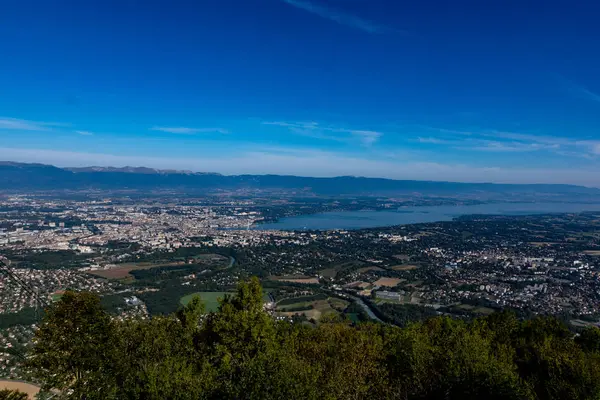
[[[15,204],[19,207],[15,209]],[[2,211],[2,207],[9,211]],[[45,249],[93,253],[111,242],[152,250],[195,246],[302,244],[293,232],[254,229],[263,220],[247,207],[49,201],[22,197],[0,202],[0,250]]]

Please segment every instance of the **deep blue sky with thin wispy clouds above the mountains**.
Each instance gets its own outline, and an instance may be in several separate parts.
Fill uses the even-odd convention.
[[[600,186],[598,2],[0,8],[0,160]]]

